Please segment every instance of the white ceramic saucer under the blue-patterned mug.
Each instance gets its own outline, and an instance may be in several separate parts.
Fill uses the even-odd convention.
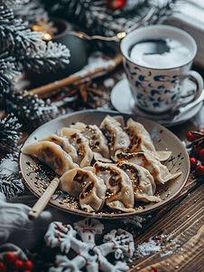
[[[190,92],[195,90],[195,83],[192,83],[190,80],[186,81],[184,88],[186,92]],[[127,82],[127,79],[122,79],[119,83],[116,83],[114,88],[112,89],[111,95],[110,95],[111,102],[113,106],[116,108],[118,112],[123,113],[131,113],[136,114],[138,116],[144,117],[146,119],[150,119],[152,121],[156,121],[163,126],[170,127],[173,125],[180,124],[184,121],[190,120],[193,116],[195,116],[201,109],[203,103],[200,102],[197,106],[192,108],[189,112],[186,112],[185,114],[181,115],[176,120],[168,120],[164,119],[164,115],[158,115],[153,113],[148,113],[140,110],[139,107],[136,107],[134,105],[134,99],[132,96],[132,93],[129,88],[129,84]],[[134,106],[133,106],[134,105]],[[162,117],[162,120],[161,120]]]

